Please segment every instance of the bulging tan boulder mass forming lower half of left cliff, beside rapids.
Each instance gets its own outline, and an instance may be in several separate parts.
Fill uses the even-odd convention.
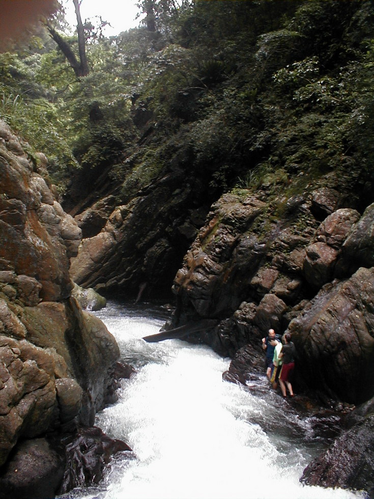
[[[92,425],[111,394],[120,356],[105,325],[74,300],[23,309],[3,306],[2,324],[1,464],[20,437]]]

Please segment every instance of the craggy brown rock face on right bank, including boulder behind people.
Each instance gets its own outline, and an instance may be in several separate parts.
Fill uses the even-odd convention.
[[[258,355],[268,329],[289,330],[301,385],[349,403],[370,398],[374,205],[361,216],[348,196],[355,182],[331,174],[316,179],[314,190],[294,184],[292,196],[265,185],[222,196],[176,275],[177,309],[165,327],[216,319],[189,340],[239,355],[242,371],[236,365],[230,374],[242,381],[263,369]]]

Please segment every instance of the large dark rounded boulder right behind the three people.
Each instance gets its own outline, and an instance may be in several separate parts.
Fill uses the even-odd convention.
[[[304,378],[355,404],[374,394],[373,286],[374,269],[360,268],[324,286],[289,325]]]

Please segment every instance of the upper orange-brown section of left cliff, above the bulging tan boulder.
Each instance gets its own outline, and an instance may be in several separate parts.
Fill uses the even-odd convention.
[[[1,269],[36,279],[44,301],[68,298],[69,258],[77,253],[81,231],[4,123],[0,140]]]

